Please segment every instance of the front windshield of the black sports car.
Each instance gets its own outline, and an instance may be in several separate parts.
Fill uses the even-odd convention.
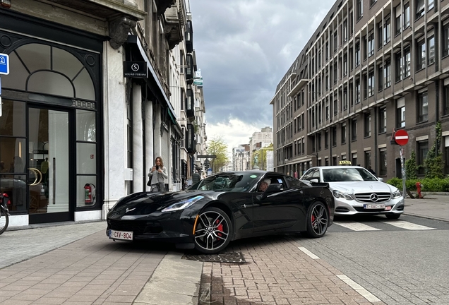
[[[207,177],[190,190],[246,192],[257,183],[262,174],[221,173]]]

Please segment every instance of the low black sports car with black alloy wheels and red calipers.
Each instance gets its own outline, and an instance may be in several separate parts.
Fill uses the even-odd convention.
[[[258,191],[263,182],[268,188]],[[245,237],[284,232],[323,237],[333,217],[327,184],[304,184],[259,170],[222,172],[186,191],[121,198],[107,214],[106,234],[114,240],[170,241],[181,249],[217,253]]]

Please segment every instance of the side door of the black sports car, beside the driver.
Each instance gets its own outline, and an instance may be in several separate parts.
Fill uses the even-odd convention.
[[[301,219],[303,214],[301,191],[289,188],[285,177],[280,175],[265,178],[270,178],[271,184],[282,184],[283,191],[272,193],[263,199],[258,199],[263,192],[253,193],[254,233],[287,231]]]

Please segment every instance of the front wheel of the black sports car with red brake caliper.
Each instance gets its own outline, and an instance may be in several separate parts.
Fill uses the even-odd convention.
[[[226,213],[219,208],[205,208],[196,221],[195,249],[205,254],[218,253],[227,247],[232,232]]]

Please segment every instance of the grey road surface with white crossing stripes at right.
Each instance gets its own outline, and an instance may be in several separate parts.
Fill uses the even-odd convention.
[[[373,229],[349,229],[354,222]],[[385,304],[449,304],[448,222],[409,215],[400,222],[337,218],[325,237],[298,243]]]

